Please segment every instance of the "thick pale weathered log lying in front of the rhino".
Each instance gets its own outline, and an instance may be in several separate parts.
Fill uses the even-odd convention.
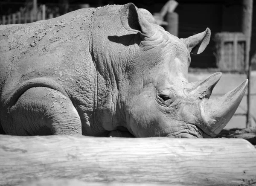
[[[256,183],[256,149],[244,139],[0,135],[0,185],[27,178],[238,186]]]

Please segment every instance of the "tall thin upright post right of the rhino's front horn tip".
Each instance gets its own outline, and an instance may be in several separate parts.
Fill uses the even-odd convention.
[[[246,115],[246,127],[251,127],[250,117],[250,40],[252,32],[252,15],[253,15],[253,0],[242,1],[242,32],[246,37],[245,44],[245,69],[247,71],[247,79],[249,80],[247,88],[247,115]]]

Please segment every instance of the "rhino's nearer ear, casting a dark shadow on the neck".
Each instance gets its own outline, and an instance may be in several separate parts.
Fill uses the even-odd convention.
[[[119,12],[121,23],[128,31],[139,32],[145,36],[151,35],[153,32],[152,25],[143,15],[140,15],[133,3],[125,4],[119,9]]]

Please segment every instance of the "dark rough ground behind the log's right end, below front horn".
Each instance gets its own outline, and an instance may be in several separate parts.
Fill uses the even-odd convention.
[[[242,138],[256,148],[256,127],[223,129],[216,138]]]

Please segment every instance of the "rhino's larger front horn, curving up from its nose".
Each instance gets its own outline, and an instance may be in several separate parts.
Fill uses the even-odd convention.
[[[201,113],[204,120],[204,128],[212,137],[217,135],[230,121],[238,108],[248,80],[245,80],[238,87],[216,99],[203,99],[201,102]]]

